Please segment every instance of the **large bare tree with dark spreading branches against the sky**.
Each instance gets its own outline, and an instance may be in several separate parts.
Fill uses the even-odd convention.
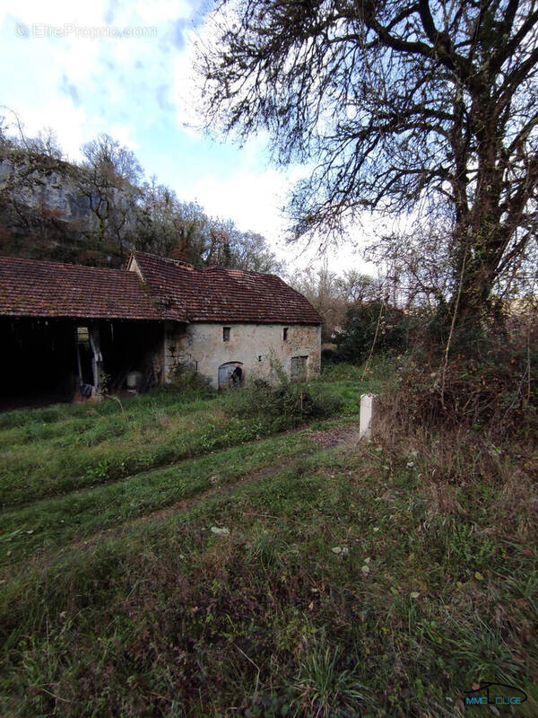
[[[221,0],[213,22],[207,124],[269,130],[276,162],[315,163],[294,236],[364,208],[440,211],[452,310],[479,322],[535,242],[538,2]]]

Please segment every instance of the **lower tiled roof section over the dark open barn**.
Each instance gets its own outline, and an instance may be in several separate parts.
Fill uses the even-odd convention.
[[[134,272],[0,257],[0,315],[159,320]]]

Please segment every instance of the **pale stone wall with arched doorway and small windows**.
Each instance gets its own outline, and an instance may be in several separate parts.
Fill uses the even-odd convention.
[[[223,328],[230,338],[223,340]],[[287,338],[284,340],[284,328]],[[165,377],[169,381],[178,364],[192,367],[219,385],[219,367],[240,363],[243,380],[270,377],[271,359],[282,363],[290,376],[291,359],[307,356],[308,378],[317,376],[321,363],[321,328],[304,324],[169,324],[164,339]]]

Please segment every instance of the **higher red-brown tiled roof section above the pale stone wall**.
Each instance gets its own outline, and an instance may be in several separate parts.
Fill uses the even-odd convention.
[[[302,294],[274,275],[242,269],[195,269],[174,259],[133,253],[144,282],[167,320],[319,324]]]

